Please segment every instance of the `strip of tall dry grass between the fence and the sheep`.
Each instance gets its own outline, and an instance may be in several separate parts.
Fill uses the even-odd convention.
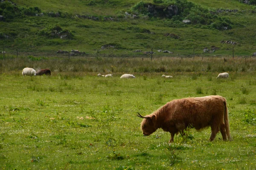
[[[0,59],[0,72],[22,71],[25,67],[35,70],[49,68],[53,72],[96,72],[96,73],[173,73],[173,72],[253,72],[256,58],[220,57],[160,57],[117,58],[117,57],[9,57]]]

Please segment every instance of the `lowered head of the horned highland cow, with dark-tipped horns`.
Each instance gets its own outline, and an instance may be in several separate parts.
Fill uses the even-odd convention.
[[[140,113],[138,113],[137,116],[140,118],[144,118],[140,125],[140,129],[143,131],[144,136],[148,136],[157,130],[157,128],[154,126],[156,118],[155,115],[141,116]]]

